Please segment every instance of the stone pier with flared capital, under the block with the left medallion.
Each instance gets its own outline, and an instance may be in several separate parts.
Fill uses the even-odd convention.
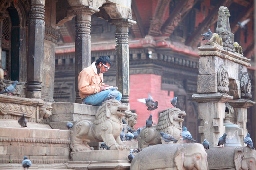
[[[219,137],[225,133],[223,119],[225,118],[225,102],[233,99],[225,93],[193,94],[192,98],[198,102],[198,119],[200,126],[198,132],[201,143],[204,139],[209,141],[210,146],[217,146]]]

